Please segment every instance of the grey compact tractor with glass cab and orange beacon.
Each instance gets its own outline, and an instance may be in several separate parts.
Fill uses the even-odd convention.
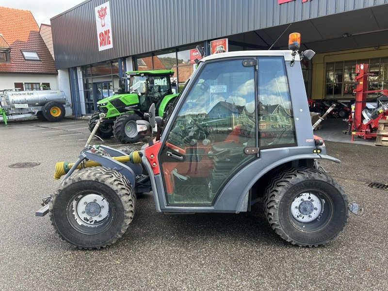
[[[298,49],[294,41],[290,50],[197,60],[163,118],[151,106],[137,121],[148,139],[141,150],[90,146],[89,139],[77,162],[56,164],[54,177],[65,177],[36,215],[49,213],[58,235],[79,248],[105,247],[129,227],[136,196],[152,191],[159,212],[239,213],[261,203],[287,242],[331,241],[349,212],[361,210],[320,171],[321,159],[340,161],[313,135],[300,61],[314,52]]]

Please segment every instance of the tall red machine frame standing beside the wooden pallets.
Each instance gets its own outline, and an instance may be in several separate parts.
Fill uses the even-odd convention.
[[[349,129],[352,135],[352,141],[354,136],[367,138],[376,137],[376,129],[378,128],[378,122],[382,118],[388,119],[388,110],[380,110],[377,117],[372,118],[366,124],[363,123],[362,111],[366,108],[366,100],[368,93],[382,93],[388,96],[388,89],[381,90],[368,90],[368,76],[373,74],[368,73],[368,64],[356,64],[356,89],[353,91],[356,93],[356,104],[352,113],[349,115]],[[352,106],[353,107],[353,106]]]

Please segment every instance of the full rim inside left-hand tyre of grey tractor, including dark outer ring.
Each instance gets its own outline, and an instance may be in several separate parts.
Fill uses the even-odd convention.
[[[110,205],[100,194],[78,194],[67,208],[70,224],[84,233],[98,233],[109,225]]]

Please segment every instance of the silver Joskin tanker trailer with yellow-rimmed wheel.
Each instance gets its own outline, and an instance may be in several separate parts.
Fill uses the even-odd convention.
[[[36,116],[40,120],[60,121],[66,107],[70,103],[60,90],[4,90],[0,95],[0,120],[7,124],[7,119]]]

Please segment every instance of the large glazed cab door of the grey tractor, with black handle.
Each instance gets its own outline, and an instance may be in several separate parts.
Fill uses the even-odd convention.
[[[167,207],[214,205],[229,179],[258,159],[256,64],[229,59],[199,68],[159,154]]]

